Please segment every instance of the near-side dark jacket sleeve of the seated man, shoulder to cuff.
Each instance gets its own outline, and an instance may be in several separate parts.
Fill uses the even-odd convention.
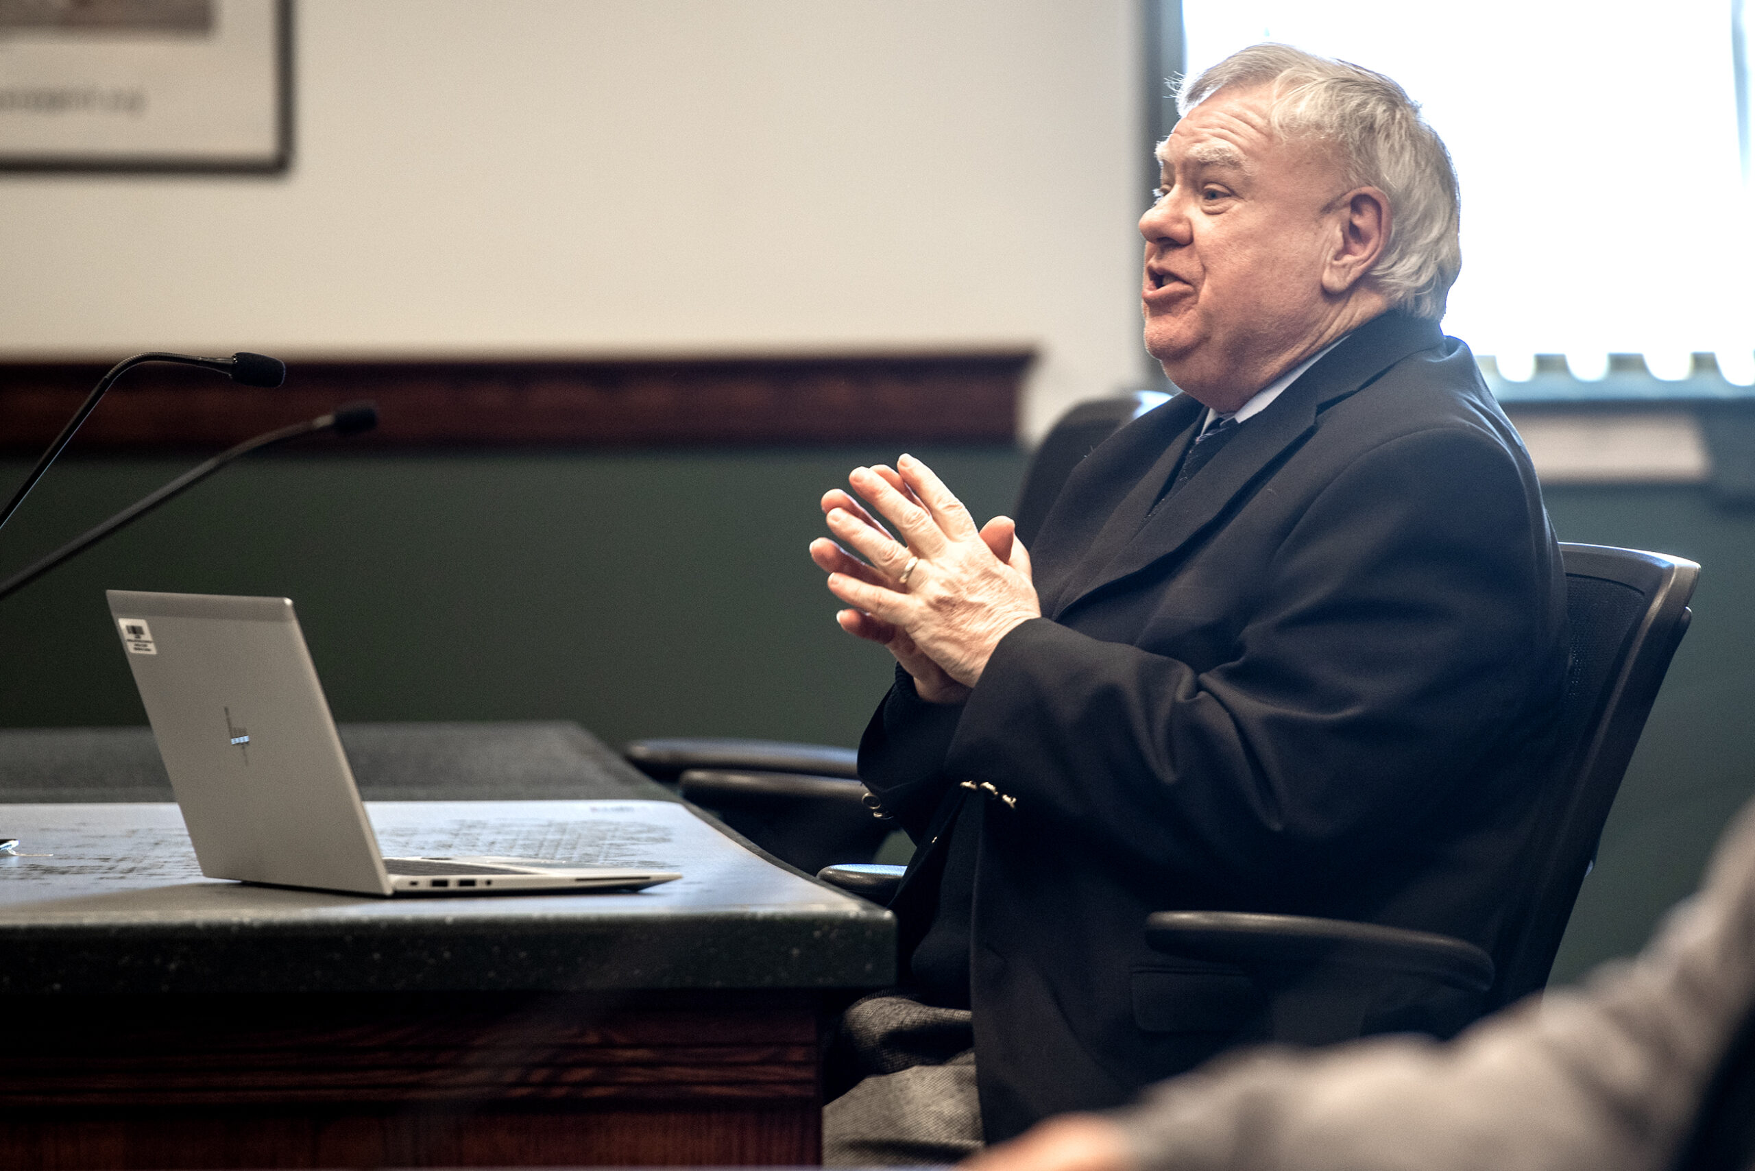
[[[1007,634],[946,765],[1120,860],[1276,887],[1371,850],[1527,722],[1551,537],[1497,437],[1379,444],[1316,493],[1209,671],[1049,620]],[[1544,581],[1544,578],[1548,578]]]

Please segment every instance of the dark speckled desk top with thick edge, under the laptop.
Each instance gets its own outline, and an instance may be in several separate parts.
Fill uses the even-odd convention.
[[[342,739],[384,853],[637,862],[684,878],[639,894],[476,899],[207,880],[177,808],[153,801],[146,729],[0,732],[0,836],[19,839],[18,857],[0,858],[0,994],[830,988],[895,976],[888,911],[746,850],[576,725],[353,725]]]

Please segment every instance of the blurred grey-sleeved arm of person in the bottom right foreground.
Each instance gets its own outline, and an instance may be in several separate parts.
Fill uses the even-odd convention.
[[[1634,962],[1583,988],[1530,997],[1448,1045],[1402,1036],[1221,1057],[1134,1108],[1044,1122],[967,1167],[1664,1171],[1732,1039],[1751,1057],[1751,1004],[1755,802],[1701,892]],[[1715,1159],[1750,1166],[1755,1080],[1729,1087],[1716,1108],[1743,1118],[1743,1150],[1715,1146]]]

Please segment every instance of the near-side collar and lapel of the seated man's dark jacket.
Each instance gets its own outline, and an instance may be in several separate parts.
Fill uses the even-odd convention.
[[[1323,407],[1374,381],[1411,353],[1443,342],[1436,321],[1388,313],[1367,321],[1329,351],[1265,411],[1244,423],[1200,474],[1183,485],[1157,513],[1151,502],[1186,449],[1192,423],[1178,435],[1165,458],[1153,465],[1109,516],[1088,550],[1093,572],[1069,581],[1051,614],[1060,618],[1092,593],[1171,557],[1213,525],[1258,479],[1295,451],[1316,428]],[[1167,409],[1167,407],[1160,407]],[[1199,418],[1199,416],[1197,416]],[[1171,458],[1174,456],[1174,458]],[[1160,476],[1160,463],[1169,471]]]

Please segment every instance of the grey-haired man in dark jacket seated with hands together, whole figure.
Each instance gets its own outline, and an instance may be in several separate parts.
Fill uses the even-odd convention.
[[[1150,911],[1490,952],[1506,925],[1565,595],[1529,458],[1437,328],[1450,158],[1395,83],[1283,46],[1179,97],[1139,226],[1183,393],[1079,463],[1028,553],[909,456],[855,469],[869,511],[823,499],[839,621],[899,664],[860,774],[920,843],[909,987],[844,1020],[869,1076],[828,1160],[941,1159],[1209,1055],[1214,973],[1155,955]]]

